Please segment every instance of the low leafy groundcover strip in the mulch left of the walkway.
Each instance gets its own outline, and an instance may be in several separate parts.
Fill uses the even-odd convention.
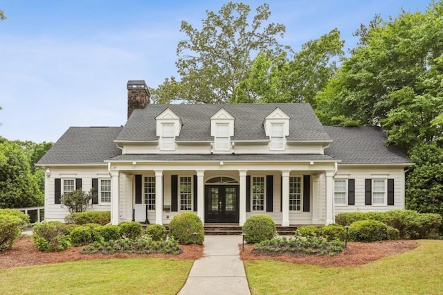
[[[179,254],[181,249],[174,239],[154,241],[150,235],[141,235],[134,239],[123,237],[118,240],[109,240],[108,242],[94,242],[89,245],[89,248],[82,249],[82,254],[95,253]]]

